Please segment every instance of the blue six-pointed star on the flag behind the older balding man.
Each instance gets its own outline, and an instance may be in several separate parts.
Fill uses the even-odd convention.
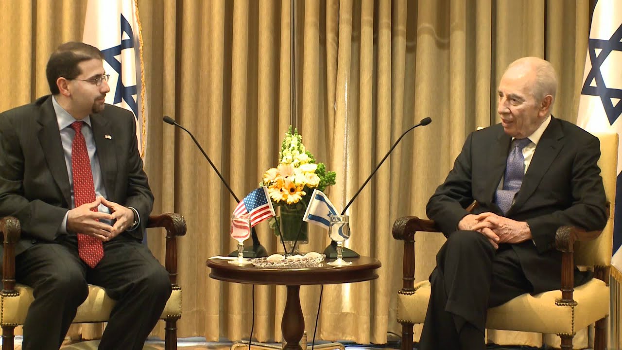
[[[598,56],[596,55],[596,49],[601,49]],[[581,90],[582,95],[600,97],[603,107],[605,108],[607,119],[611,125],[622,115],[622,90],[606,87],[605,80],[600,72],[600,67],[612,51],[622,52],[622,24],[615,33],[611,35],[611,39],[590,39],[588,42],[588,53],[590,54],[590,62],[592,62],[592,70],[590,70],[585,78]],[[596,86],[590,86],[592,80],[595,81]],[[613,102],[611,102],[611,98],[619,98],[620,100],[614,106]]]

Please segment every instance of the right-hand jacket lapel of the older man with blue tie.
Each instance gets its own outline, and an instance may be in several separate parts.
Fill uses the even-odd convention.
[[[542,176],[549,170],[550,165],[555,161],[557,154],[562,149],[562,143],[560,142],[562,138],[564,138],[564,133],[562,133],[559,121],[551,116],[549,126],[547,126],[544,133],[542,133],[542,137],[536,147],[536,152],[522,180],[521,190],[518,191],[516,201],[509,209],[508,214],[511,214],[515,208],[521,207],[522,204],[531,197],[533,192],[536,191],[536,187],[540,184]]]

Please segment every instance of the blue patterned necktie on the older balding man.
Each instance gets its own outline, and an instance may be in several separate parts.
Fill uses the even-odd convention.
[[[521,189],[522,177],[525,175],[525,158],[522,156],[522,149],[531,143],[528,138],[514,139],[512,151],[508,155],[506,172],[503,177],[503,189],[496,192],[496,203],[507,214],[512,206],[516,192]]]

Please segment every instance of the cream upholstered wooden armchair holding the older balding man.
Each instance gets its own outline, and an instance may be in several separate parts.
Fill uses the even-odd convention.
[[[595,323],[594,349],[606,348],[606,316],[609,315],[609,273],[613,245],[613,212],[616,193],[618,135],[600,134],[598,165],[605,184],[609,217],[603,231],[585,232],[577,227],[560,227],[555,248],[562,252],[562,283],[559,290],[537,295],[524,294],[490,308],[486,328],[557,334],[561,348],[572,349],[573,336]],[[393,237],[404,241],[404,286],[397,296],[397,321],[402,324],[402,350],[411,350],[413,325],[424,322],[430,298],[430,282],[414,283],[415,233],[440,232],[432,220],[401,217],[393,225]],[[594,269],[592,280],[573,288],[575,265]]]

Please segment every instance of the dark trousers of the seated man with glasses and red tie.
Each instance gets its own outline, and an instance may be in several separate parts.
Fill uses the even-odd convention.
[[[142,349],[171,293],[169,274],[147,247],[119,235],[104,243],[104,257],[90,268],[78,257],[75,235],[39,243],[16,257],[16,280],[34,288],[24,322],[24,350],[58,349],[88,283],[102,286],[117,303],[100,349]]]

